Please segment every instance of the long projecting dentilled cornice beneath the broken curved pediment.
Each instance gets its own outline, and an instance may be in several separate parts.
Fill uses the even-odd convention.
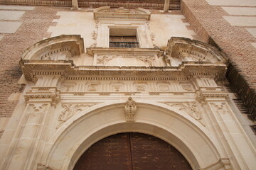
[[[24,77],[33,81],[39,75],[61,75],[66,80],[188,80],[193,75],[224,79],[225,64],[183,62],[178,67],[75,67],[73,61],[21,60]]]

